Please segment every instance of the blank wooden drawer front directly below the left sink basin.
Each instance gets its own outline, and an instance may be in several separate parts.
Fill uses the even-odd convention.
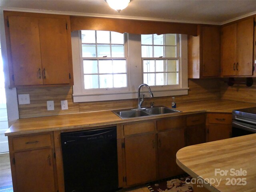
[[[124,125],[124,135],[152,132],[154,130],[155,123],[153,121]]]

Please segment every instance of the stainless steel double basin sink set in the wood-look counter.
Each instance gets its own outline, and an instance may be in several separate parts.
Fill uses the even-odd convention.
[[[112,112],[122,119],[127,119],[135,117],[177,113],[181,111],[171,109],[165,106],[155,106],[152,108],[112,110]]]

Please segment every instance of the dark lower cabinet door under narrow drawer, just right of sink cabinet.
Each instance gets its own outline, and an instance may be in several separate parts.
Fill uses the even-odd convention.
[[[187,146],[204,143],[206,139],[205,124],[189,126],[186,128]]]

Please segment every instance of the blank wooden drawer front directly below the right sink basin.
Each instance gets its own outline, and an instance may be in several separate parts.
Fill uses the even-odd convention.
[[[175,129],[185,126],[185,117],[164,118],[157,121],[157,130]]]

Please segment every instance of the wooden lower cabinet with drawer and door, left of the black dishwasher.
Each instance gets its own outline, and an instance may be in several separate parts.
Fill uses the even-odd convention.
[[[52,132],[9,136],[14,192],[57,192]]]

